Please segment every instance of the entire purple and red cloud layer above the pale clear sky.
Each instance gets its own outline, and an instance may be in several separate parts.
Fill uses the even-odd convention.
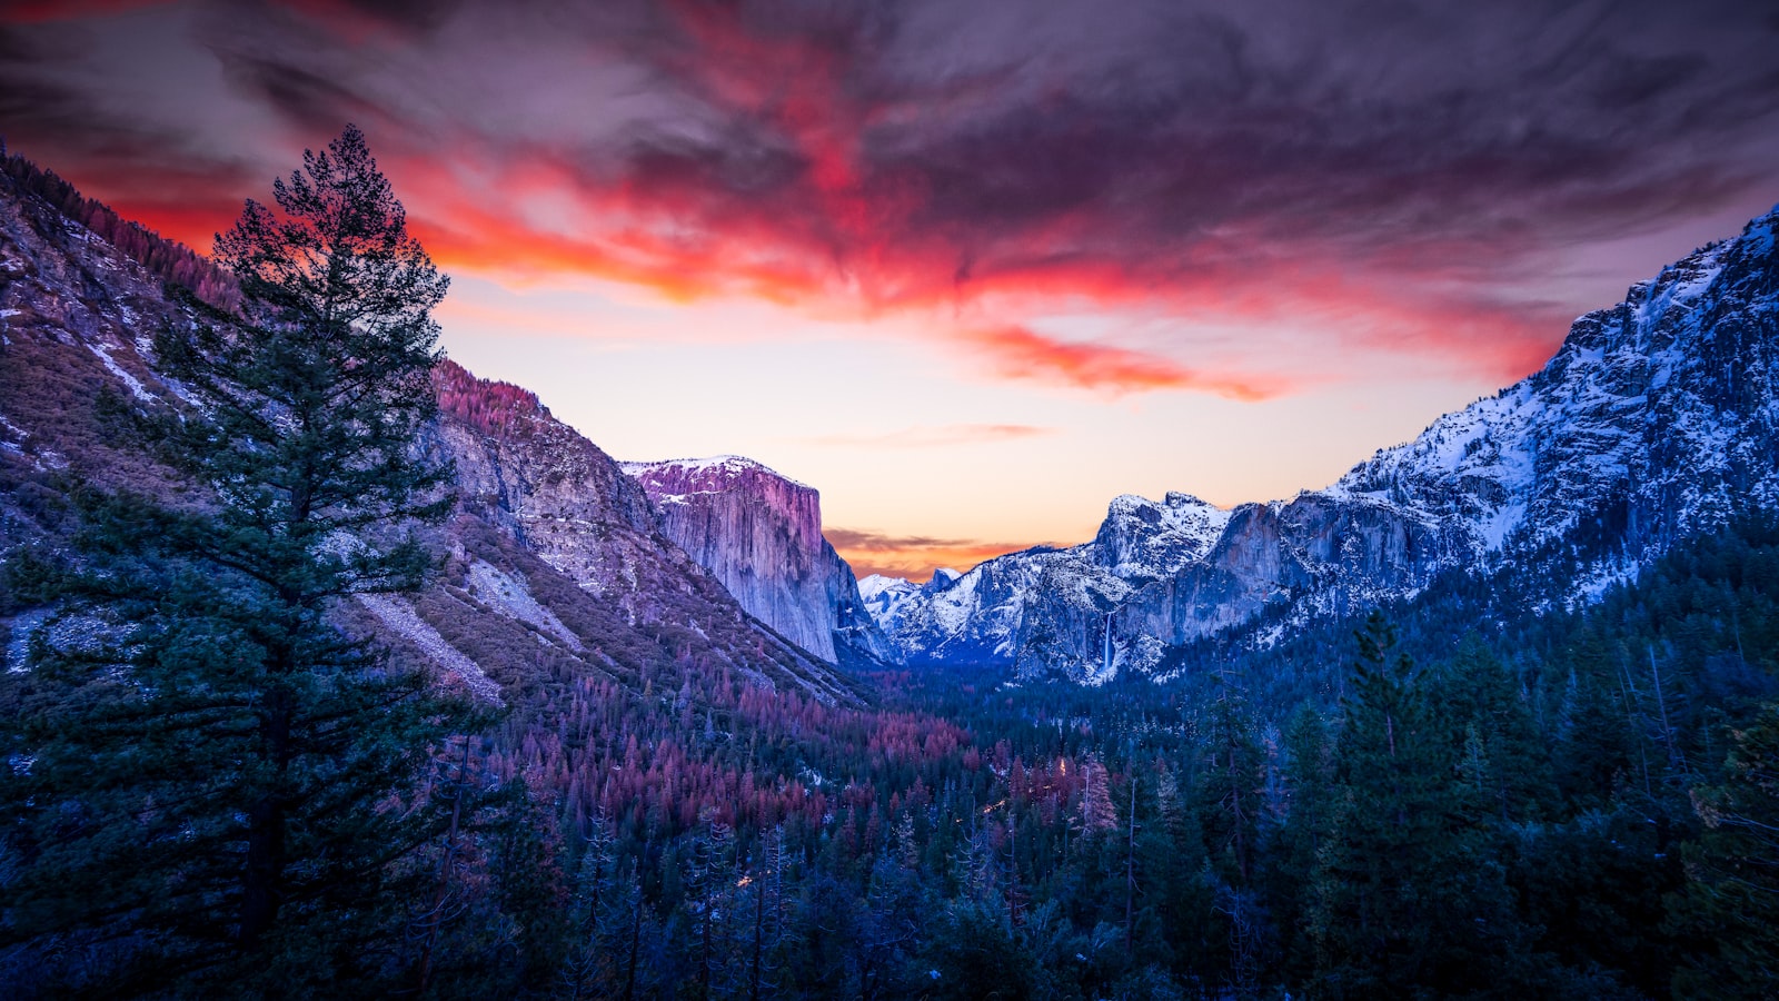
[[[1751,5],[1336,7],[23,2],[0,132],[206,246],[356,121],[450,269],[914,317],[968,374],[1238,401],[1381,358],[1521,374],[1599,305],[1553,265],[1779,189]],[[149,18],[185,48],[144,69]]]

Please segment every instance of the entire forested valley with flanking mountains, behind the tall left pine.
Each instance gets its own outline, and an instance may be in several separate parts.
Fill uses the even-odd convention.
[[[379,864],[374,901],[292,876],[267,953],[160,907],[199,871],[180,830],[212,825],[217,859],[246,837],[157,819],[197,745],[149,725],[141,753],[80,757],[109,734],[105,705],[69,709],[91,686],[167,693],[128,650],[69,673],[105,620],[34,590],[93,559],[105,508],[84,499],[199,517],[226,497],[117,422],[203,426],[215,401],[169,351],[251,337],[238,290],[94,212],[7,159],[14,996],[1758,990],[1779,216],[1324,490],[1117,497],[1089,543],[925,584],[857,581],[811,486],[737,456],[616,461],[535,394],[438,360],[407,452],[448,470],[413,534],[425,582],[311,622],[457,705],[368,810],[432,826]],[[91,761],[112,762],[103,802]],[[119,859],[158,867],[116,908],[69,901]]]

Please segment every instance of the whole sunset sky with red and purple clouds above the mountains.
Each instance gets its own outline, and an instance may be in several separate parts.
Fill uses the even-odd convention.
[[[356,123],[452,358],[925,579],[1535,370],[1779,201],[1775,52],[1713,0],[0,0],[0,135],[206,251]]]

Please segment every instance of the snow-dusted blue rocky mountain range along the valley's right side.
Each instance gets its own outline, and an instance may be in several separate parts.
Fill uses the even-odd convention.
[[[1585,600],[1779,502],[1775,230],[1779,210],[1633,285],[1539,372],[1324,490],[1229,511],[1119,497],[1089,543],[872,581],[866,607],[909,663],[1096,684],[1263,611],[1347,614],[1450,570],[1548,568],[1528,607]]]

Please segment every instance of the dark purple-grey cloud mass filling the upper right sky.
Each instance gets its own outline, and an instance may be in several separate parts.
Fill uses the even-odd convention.
[[[991,240],[1082,210],[1112,224],[1071,249],[1115,244],[1137,262],[1215,251],[1224,226],[1263,249],[1308,237],[1413,246],[1432,253],[1423,264],[1512,255],[1498,244],[1647,226],[1626,210],[1683,212],[1772,180],[1770,164],[1720,146],[1745,148],[1761,125],[1770,135],[1779,109],[1772,39],[1749,39],[1735,9],[1688,30],[1713,12],[1441,7],[1338,25],[1315,23],[1325,5],[1300,5],[1308,18],[1274,5],[1267,25],[1156,14],[1057,73],[986,57],[984,71],[1026,80],[1018,100],[868,135],[872,167],[932,192],[918,226]]]

